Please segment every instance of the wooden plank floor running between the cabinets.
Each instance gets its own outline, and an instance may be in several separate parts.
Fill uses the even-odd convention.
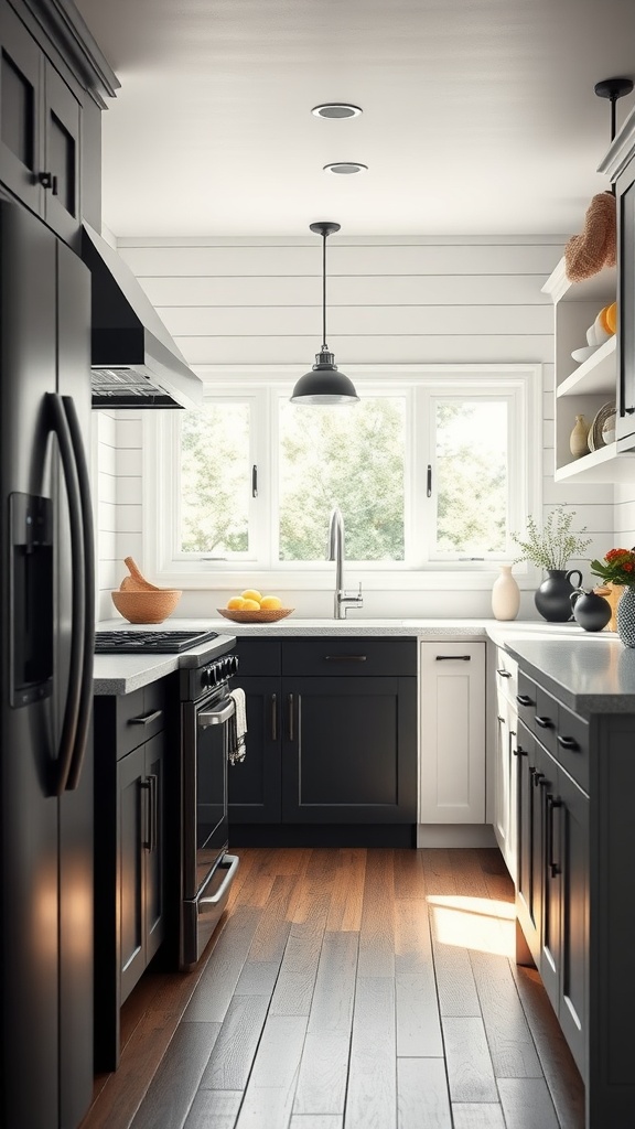
[[[81,1129],[583,1129],[497,850],[235,849],[216,944],[142,979]]]

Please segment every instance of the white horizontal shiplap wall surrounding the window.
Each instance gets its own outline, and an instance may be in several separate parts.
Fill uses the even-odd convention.
[[[541,287],[563,240],[545,238],[346,238],[328,246],[328,340],[347,364],[540,362],[543,366],[543,505],[566,501],[586,525],[589,555],[614,525],[612,487],[558,484],[554,464],[554,309]],[[313,362],[321,341],[321,244],[305,239],[121,239],[127,260],[186,360],[203,379],[250,365]],[[128,428],[125,425],[128,423]],[[134,445],[137,444],[137,446]],[[106,500],[104,548],[142,563],[140,421],[116,420],[115,500]],[[104,455],[110,458],[107,450]],[[107,464],[110,465],[110,464]],[[106,473],[113,473],[107,472]],[[112,495],[112,489],[111,489]],[[110,508],[112,507],[112,509]],[[635,511],[635,502],[633,502]],[[635,526],[635,514],[633,517]],[[110,563],[108,563],[110,562]],[[103,559],[110,584],[123,566]],[[576,563],[576,562],[572,562]],[[588,579],[588,574],[585,579]],[[209,614],[225,593],[185,594],[184,614]],[[366,614],[488,615],[489,594],[440,593],[407,606],[371,594]],[[303,594],[305,614],[329,614],[330,593]],[[104,601],[105,603],[105,601]],[[108,609],[110,612],[110,609]],[[521,614],[534,615],[531,593]]]

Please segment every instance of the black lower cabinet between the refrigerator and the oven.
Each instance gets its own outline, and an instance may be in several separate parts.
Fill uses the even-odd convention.
[[[168,762],[177,758],[167,756],[174,735],[164,682],[95,699],[97,1070],[119,1065],[121,1005],[167,929],[166,873],[175,852],[174,829],[172,838],[167,831]]]

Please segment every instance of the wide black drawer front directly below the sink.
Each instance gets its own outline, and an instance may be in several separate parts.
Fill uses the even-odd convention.
[[[416,675],[417,640],[327,636],[282,640],[284,675]]]

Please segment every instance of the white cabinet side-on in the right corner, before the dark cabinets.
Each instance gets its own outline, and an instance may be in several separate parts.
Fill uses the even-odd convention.
[[[517,663],[496,648],[496,737],[494,743],[494,834],[507,869],[516,878]]]

